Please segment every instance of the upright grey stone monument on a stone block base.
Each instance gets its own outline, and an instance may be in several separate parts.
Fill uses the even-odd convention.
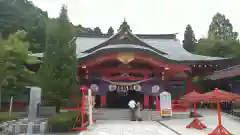
[[[37,118],[38,107],[41,103],[41,88],[30,88],[28,117],[15,124],[15,134],[44,135],[47,129],[47,119]]]

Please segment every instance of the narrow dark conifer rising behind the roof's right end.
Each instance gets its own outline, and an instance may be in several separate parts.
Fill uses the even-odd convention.
[[[193,32],[191,25],[188,24],[184,33],[183,48],[189,52],[192,52],[195,43],[196,43],[195,34]]]

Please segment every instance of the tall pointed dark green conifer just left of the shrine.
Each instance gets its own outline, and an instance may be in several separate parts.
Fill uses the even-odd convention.
[[[38,72],[44,99],[52,102],[57,112],[77,86],[76,45],[69,43],[73,36],[67,8],[62,6],[55,27],[48,32],[43,64]]]

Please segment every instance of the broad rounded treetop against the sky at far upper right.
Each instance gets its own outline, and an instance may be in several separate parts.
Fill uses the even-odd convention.
[[[217,40],[236,40],[238,33],[233,31],[233,26],[225,15],[216,13],[209,25],[208,38]]]

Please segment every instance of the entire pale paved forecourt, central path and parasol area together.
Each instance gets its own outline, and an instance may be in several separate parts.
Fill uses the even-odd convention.
[[[174,129],[182,135],[206,135],[217,126],[216,110],[198,110],[204,117],[200,118],[207,129],[185,128],[192,119],[174,119],[162,121],[165,125]],[[240,135],[240,118],[222,113],[222,125],[234,135]],[[58,135],[176,135],[168,128],[153,121],[131,122],[131,121],[97,121],[88,131],[81,133],[63,133]],[[0,133],[0,135],[2,135]],[[53,134],[49,134],[53,135]],[[55,134],[57,135],[57,134]]]

